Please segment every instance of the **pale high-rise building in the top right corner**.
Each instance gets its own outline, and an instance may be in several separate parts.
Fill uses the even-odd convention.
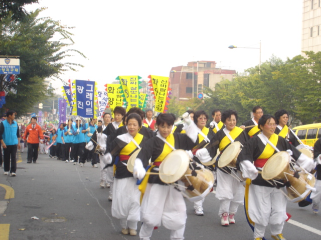
[[[321,51],[321,0],[303,0],[301,51]]]

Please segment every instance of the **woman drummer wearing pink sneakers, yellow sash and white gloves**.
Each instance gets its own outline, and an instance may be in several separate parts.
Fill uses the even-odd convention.
[[[236,126],[237,119],[237,112],[232,109],[222,113],[222,122],[226,127],[214,135],[207,148],[200,149],[196,152],[196,156],[202,162],[211,160],[216,155],[218,148],[222,154],[232,142],[239,141],[241,144],[245,144],[249,136],[243,129]],[[217,144],[215,144],[215,142],[217,142]],[[217,162],[221,154],[218,156]],[[230,223],[235,223],[234,216],[237,208],[244,200],[244,187],[240,183],[236,170],[232,169],[234,172],[231,172],[231,169],[227,167],[218,169],[216,198],[220,200],[219,216],[221,217],[221,225],[228,226]]]

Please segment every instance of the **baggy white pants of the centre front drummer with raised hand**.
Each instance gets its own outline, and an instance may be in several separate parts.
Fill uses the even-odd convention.
[[[173,186],[147,183],[140,215],[141,240],[149,240],[154,226],[161,224],[172,230],[170,239],[184,239],[186,204],[183,195]]]

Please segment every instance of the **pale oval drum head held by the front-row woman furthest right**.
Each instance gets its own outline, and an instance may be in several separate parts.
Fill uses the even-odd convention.
[[[289,164],[290,155],[286,151],[279,151],[271,156],[262,168],[262,177],[271,180],[280,175]]]

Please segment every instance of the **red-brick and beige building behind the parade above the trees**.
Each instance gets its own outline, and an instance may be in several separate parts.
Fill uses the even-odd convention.
[[[207,86],[215,90],[215,84],[222,79],[232,80],[235,70],[216,67],[215,61],[190,61],[187,66],[172,67],[170,82],[172,96],[179,100],[197,97]],[[194,96],[193,96],[194,92]]]

